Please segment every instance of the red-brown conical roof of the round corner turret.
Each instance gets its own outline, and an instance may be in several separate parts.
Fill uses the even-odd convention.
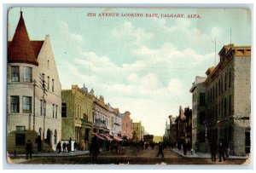
[[[30,42],[26,32],[26,25],[22,12],[20,12],[20,20],[16,27],[15,35],[9,45],[8,62],[27,63],[38,66],[38,61],[32,48],[32,43]]]

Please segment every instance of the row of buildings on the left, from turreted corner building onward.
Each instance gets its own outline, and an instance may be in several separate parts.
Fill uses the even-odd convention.
[[[72,85],[62,89],[49,35],[31,41],[22,12],[8,43],[7,150],[23,153],[30,140],[34,151],[53,151],[59,141],[90,146],[95,134],[102,140],[141,141],[141,122],[120,113],[94,90]]]

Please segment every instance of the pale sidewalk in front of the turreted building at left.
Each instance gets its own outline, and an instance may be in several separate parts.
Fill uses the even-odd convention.
[[[88,154],[89,151],[76,151],[76,152],[51,152],[51,153],[32,153],[32,157],[65,157],[65,156],[78,156]],[[9,157],[15,157],[15,154],[9,154]],[[26,157],[25,153],[16,154],[16,157]]]

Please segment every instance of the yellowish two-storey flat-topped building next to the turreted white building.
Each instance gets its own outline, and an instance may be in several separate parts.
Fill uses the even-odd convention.
[[[61,95],[62,141],[67,143],[71,141],[72,146],[76,141],[79,147],[84,141],[87,147],[90,146],[93,92],[88,92],[85,86],[79,89],[78,85],[72,85],[72,89],[63,89]]]

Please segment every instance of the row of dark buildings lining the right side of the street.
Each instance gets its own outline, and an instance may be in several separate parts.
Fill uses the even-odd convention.
[[[251,47],[228,44],[218,55],[218,65],[209,67],[206,77],[196,76],[189,89],[192,112],[185,127],[180,124],[180,112],[175,120],[170,117],[166,136],[178,141],[185,131],[183,138],[188,142],[186,136],[191,134],[192,147],[197,151],[207,153],[209,143],[222,141],[231,154],[246,155],[251,147]]]

